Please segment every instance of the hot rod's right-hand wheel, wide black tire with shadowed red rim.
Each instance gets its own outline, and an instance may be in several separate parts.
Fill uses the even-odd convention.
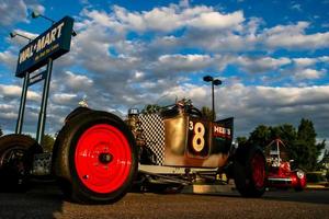
[[[238,148],[234,161],[235,184],[245,197],[261,197],[265,192],[265,158],[260,148]]]

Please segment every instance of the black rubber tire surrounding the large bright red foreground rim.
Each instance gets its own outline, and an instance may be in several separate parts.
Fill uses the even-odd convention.
[[[76,153],[78,153],[80,150],[78,148],[80,138],[84,138],[84,134],[89,134],[88,131],[90,131],[91,129],[93,130],[93,128],[98,126],[114,127],[114,129],[117,130],[121,134],[121,136],[123,136],[123,138],[125,139],[124,141],[127,142],[126,147],[123,146],[125,148],[120,150],[128,151],[131,158],[131,165],[128,165],[127,168],[127,174],[124,182],[120,184],[117,188],[109,189],[109,192],[100,191],[99,188],[94,188],[93,186],[88,184],[89,175],[87,174],[84,175],[86,177],[81,177],[81,172],[79,172],[81,170],[81,164],[79,164],[79,162],[76,162],[75,160],[77,159]],[[90,150],[89,152],[93,152],[93,150]],[[99,154],[98,159],[100,160],[100,165],[105,166],[109,163],[109,165],[112,164],[112,154],[110,152],[109,154],[111,159],[107,160],[109,162],[106,161],[107,163],[105,163],[105,161],[101,161],[101,154]],[[114,161],[115,159],[116,158],[113,157]],[[117,116],[99,111],[84,112],[83,114],[72,117],[65,125],[65,127],[59,131],[58,137],[56,139],[53,161],[53,172],[57,176],[64,194],[67,197],[69,197],[72,201],[80,204],[104,204],[114,203],[121,199],[132,186],[133,180],[137,173],[138,165],[135,140],[128,127]],[[89,161],[90,162],[87,162],[86,165],[92,166],[91,160]],[[129,163],[129,161],[124,162]],[[92,170],[95,169],[97,168],[93,166]],[[106,184],[104,186],[106,186]]]

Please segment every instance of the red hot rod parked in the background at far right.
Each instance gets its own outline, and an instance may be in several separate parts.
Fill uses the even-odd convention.
[[[306,186],[306,174],[299,169],[291,170],[293,160],[287,160],[285,148],[281,139],[273,140],[265,148],[268,186],[303,191]]]

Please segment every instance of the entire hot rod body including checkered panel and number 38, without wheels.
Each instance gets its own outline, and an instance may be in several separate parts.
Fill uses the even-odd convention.
[[[135,119],[131,116],[126,123],[135,138],[140,136],[139,162],[143,164],[222,168],[227,163],[234,118],[211,122],[183,111],[170,110],[161,114],[139,114]],[[139,124],[140,134],[136,131],[136,124]]]

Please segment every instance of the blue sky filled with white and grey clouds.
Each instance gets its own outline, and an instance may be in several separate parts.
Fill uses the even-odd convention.
[[[219,3],[218,3],[219,2]],[[237,136],[260,124],[314,122],[329,139],[328,0],[1,0],[0,126],[12,132],[22,80],[14,77],[23,38],[49,22],[75,18],[71,51],[54,64],[46,131],[87,96],[92,108],[125,115],[128,107],[189,97],[211,106],[212,74],[218,118],[234,116]],[[24,131],[34,132],[41,84],[29,92]],[[166,96],[166,97],[163,97]],[[164,102],[164,101],[163,101]]]

